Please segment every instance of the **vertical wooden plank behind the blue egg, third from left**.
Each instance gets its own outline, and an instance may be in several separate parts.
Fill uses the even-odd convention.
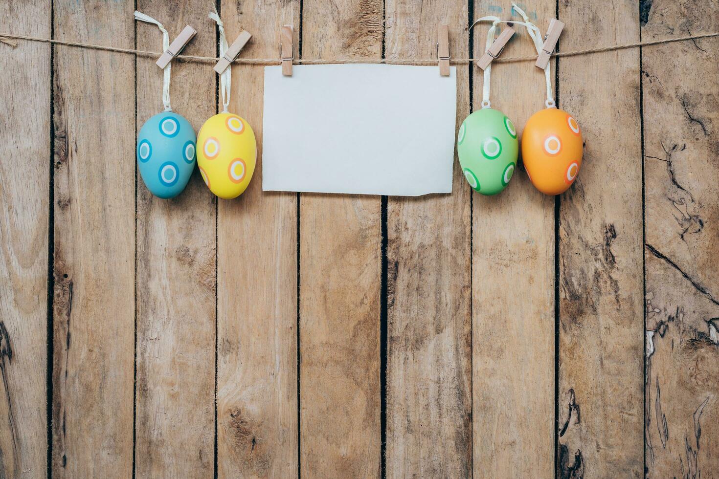
[[[198,34],[185,52],[214,56],[206,1],[152,0],[137,9],[161,22],[170,41],[186,24]],[[162,34],[138,22],[137,48],[159,51]],[[137,58],[137,131],[160,113],[162,70]],[[173,111],[195,131],[215,113],[211,65],[173,61]],[[129,159],[128,159],[129,161]],[[150,193],[137,175],[138,477],[211,478],[214,473],[215,201],[196,171],[172,200]]]

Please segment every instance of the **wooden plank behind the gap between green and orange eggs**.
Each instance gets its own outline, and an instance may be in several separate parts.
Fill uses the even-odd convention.
[[[521,20],[511,6],[475,2],[487,14]],[[554,1],[526,10],[546,31]],[[489,24],[475,27],[474,55],[485,49]],[[503,55],[536,53],[524,27]],[[482,70],[472,69],[474,106],[482,101]],[[516,126],[544,108],[544,73],[531,62],[492,67],[490,101]],[[469,188],[462,182],[462,187]],[[554,468],[554,198],[542,195],[518,168],[500,194],[473,195],[472,371],[475,477],[551,477]]]

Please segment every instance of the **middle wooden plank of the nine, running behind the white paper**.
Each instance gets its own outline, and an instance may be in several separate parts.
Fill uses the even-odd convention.
[[[303,9],[303,57],[382,55],[382,0],[305,0]],[[306,477],[380,475],[380,238],[380,197],[300,195]]]

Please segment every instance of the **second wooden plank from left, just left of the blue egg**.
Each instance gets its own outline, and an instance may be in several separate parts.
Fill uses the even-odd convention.
[[[134,47],[129,1],[55,1],[55,37]],[[134,57],[55,48],[52,475],[132,475]]]

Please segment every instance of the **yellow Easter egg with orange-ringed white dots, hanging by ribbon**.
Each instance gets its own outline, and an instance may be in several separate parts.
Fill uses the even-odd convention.
[[[197,164],[210,191],[226,200],[242,195],[257,162],[255,132],[247,121],[219,113],[203,124],[197,144]]]

